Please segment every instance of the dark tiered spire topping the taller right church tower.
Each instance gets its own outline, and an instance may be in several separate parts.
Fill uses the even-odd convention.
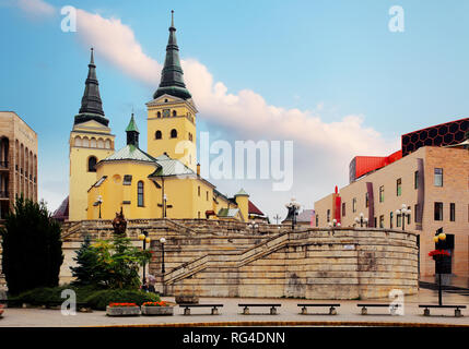
[[[169,38],[166,46],[166,59],[161,73],[160,87],[153,94],[157,98],[168,94],[183,99],[191,98],[189,91],[186,88],[183,77],[183,69],[179,61],[179,48],[176,41],[176,28],[174,26],[174,11],[171,11]]]

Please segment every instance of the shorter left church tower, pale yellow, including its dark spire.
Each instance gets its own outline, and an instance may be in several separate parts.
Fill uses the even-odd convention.
[[[70,132],[69,220],[86,219],[87,190],[96,182],[97,161],[114,153],[114,134],[105,118],[93,48],[79,113]]]

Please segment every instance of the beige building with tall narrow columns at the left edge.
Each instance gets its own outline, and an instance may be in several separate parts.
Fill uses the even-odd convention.
[[[37,134],[14,111],[0,111],[0,219],[21,195],[37,202]]]

